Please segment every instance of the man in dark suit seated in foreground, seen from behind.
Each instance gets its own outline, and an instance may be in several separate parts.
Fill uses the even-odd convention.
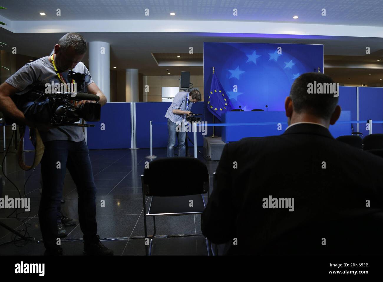
[[[295,80],[279,136],[226,144],[203,234],[227,254],[381,253],[383,159],[336,141],[338,95],[309,94],[321,73]]]

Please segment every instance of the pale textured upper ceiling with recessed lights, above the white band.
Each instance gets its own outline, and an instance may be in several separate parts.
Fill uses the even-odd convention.
[[[383,26],[381,0],[3,0],[11,21],[203,20]],[[145,9],[149,16],[145,16]],[[238,15],[233,15],[233,9]],[[322,16],[322,8],[326,16]],[[39,15],[40,12],[46,16]],[[175,12],[175,16],[170,16]],[[298,15],[298,19],[293,16]]]

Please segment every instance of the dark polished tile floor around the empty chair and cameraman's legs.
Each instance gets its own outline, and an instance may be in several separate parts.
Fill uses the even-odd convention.
[[[202,151],[202,148],[198,148]],[[92,161],[93,175],[97,186],[97,223],[98,235],[103,240],[103,244],[114,250],[115,255],[144,255],[145,245],[144,236],[144,219],[142,206],[141,191],[141,174],[144,170],[144,163],[148,160],[149,149],[121,149],[121,150],[90,150],[90,159]],[[158,157],[166,156],[166,149],[153,149],[153,154]],[[0,155],[3,159],[4,154]],[[210,173],[210,189],[213,188],[213,172],[215,172],[218,162],[205,161],[201,154],[198,155]],[[27,164],[31,164],[33,153],[25,152]],[[40,165],[33,172],[25,172],[20,169],[16,161],[16,154],[11,151],[7,154],[6,160],[2,167],[5,175],[10,178],[11,182],[21,190],[22,196],[25,181],[26,197],[31,198],[31,210],[23,212],[18,210],[18,219],[15,213],[11,214],[12,209],[0,209],[0,222],[8,225],[12,229],[25,230],[29,237],[36,238],[36,241],[28,243],[17,242],[7,243],[13,239],[14,235],[7,229],[0,226],[0,254],[3,255],[42,255],[44,246],[41,243],[41,232],[38,220],[38,207],[40,201],[39,179]],[[19,197],[19,194],[11,184],[5,179],[3,172],[3,194],[8,197]],[[70,218],[77,219],[77,224],[65,227],[67,237],[62,241],[64,255],[82,255],[83,243],[82,232],[78,224],[77,213],[77,191],[69,172],[65,177],[63,198],[65,203],[61,204],[61,210]],[[105,200],[105,207],[101,207],[100,201]],[[148,202],[150,199],[147,198]],[[205,197],[207,201],[207,197]],[[165,216],[156,217],[156,235],[169,234],[198,234],[200,229],[200,215],[190,216]],[[23,220],[25,224],[20,221]],[[153,232],[153,221],[149,218],[148,233]],[[121,237],[129,237],[130,239],[121,239]],[[66,241],[68,240],[68,241]],[[73,241],[70,241],[73,240]],[[180,254],[180,255],[206,255],[205,237],[172,237],[172,238],[155,238],[153,240],[152,254]]]

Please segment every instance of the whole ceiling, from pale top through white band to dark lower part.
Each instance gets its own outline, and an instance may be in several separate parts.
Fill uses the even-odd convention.
[[[341,78],[337,82],[358,81],[370,71],[371,81],[382,78],[383,0],[3,0],[0,5],[7,8],[0,10],[0,21],[7,23],[0,26],[0,41],[8,44],[3,49],[16,46],[19,54],[34,58],[48,55],[66,32],[80,32],[88,42],[110,43],[112,70],[202,75],[203,68],[192,64],[158,66],[152,53],[187,53],[190,46],[203,53],[203,42],[323,44],[325,55],[362,58],[325,60],[326,72]],[[376,58],[381,61],[372,65]],[[88,65],[87,55],[83,62]]]

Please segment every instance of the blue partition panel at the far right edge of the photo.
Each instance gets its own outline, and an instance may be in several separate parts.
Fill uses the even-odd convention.
[[[383,88],[359,87],[359,120],[383,120]],[[363,137],[368,135],[366,124],[359,124]],[[372,133],[383,133],[383,123],[373,123]]]

